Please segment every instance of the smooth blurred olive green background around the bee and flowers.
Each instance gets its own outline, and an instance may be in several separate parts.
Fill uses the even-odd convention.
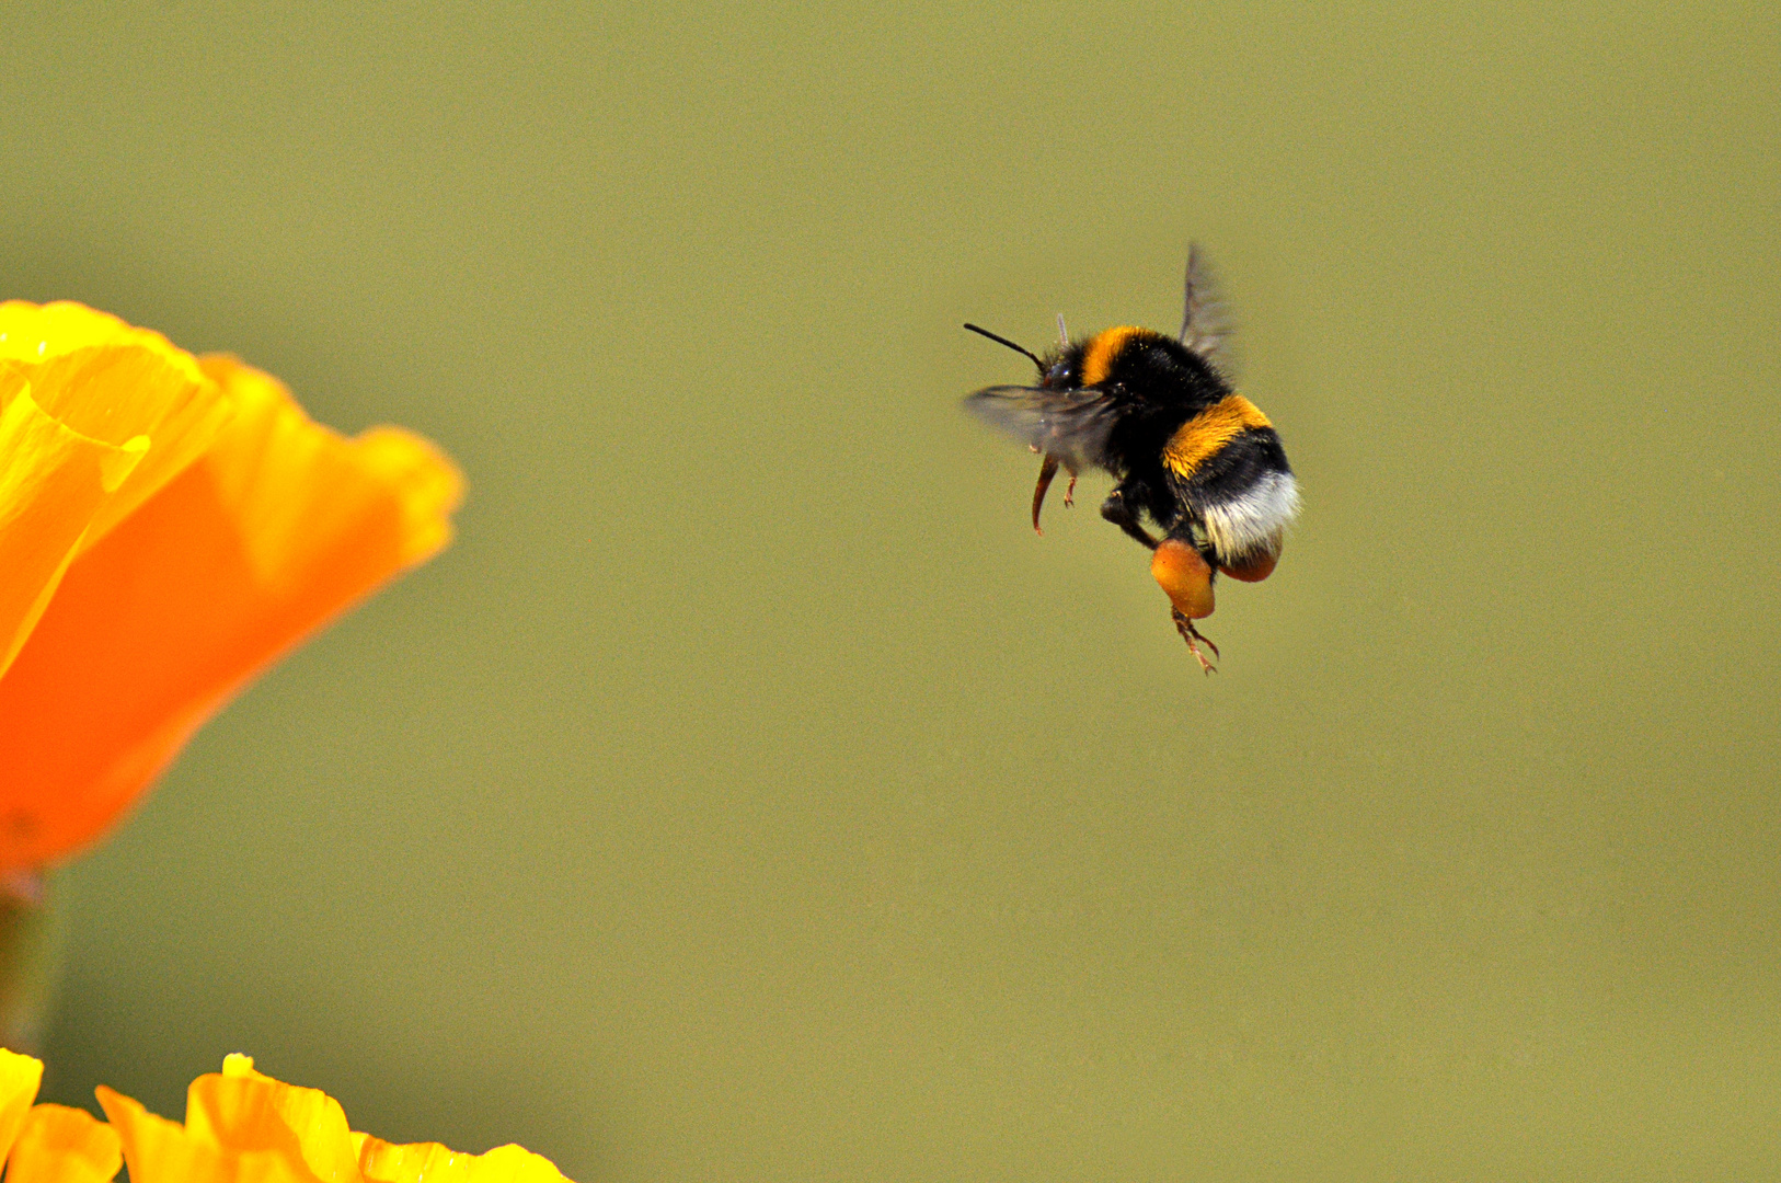
[[[4,292],[467,469],[61,877],[226,1051],[600,1179],[1781,1172],[1772,5],[11,5]],[[1190,661],[958,412],[1172,328],[1305,515]]]

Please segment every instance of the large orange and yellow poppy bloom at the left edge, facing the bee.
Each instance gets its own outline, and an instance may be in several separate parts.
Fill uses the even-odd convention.
[[[451,542],[463,479],[82,305],[0,305],[0,869],[103,834],[230,695]]]

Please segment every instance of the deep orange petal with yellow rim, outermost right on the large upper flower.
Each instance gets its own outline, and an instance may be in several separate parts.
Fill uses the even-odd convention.
[[[0,868],[98,837],[244,682],[451,538],[452,463],[390,428],[342,438],[233,358],[235,417],[80,554],[0,675]]]

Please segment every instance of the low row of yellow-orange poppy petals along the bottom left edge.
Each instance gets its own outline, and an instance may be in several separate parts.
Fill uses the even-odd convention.
[[[0,1158],[7,1183],[563,1183],[549,1158],[502,1146],[456,1154],[436,1142],[392,1146],[353,1133],[340,1103],[228,1057],[185,1094],[185,1124],[100,1087],[110,1124],[85,1110],[32,1105],[43,1064],[0,1051]]]

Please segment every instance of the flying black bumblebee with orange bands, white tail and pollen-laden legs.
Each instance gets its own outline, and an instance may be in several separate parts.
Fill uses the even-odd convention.
[[[1186,289],[1175,337],[1120,326],[1070,340],[1060,315],[1060,344],[1038,356],[967,324],[1031,358],[1038,385],[987,387],[965,406],[1044,458],[1033,490],[1038,533],[1060,467],[1070,476],[1065,504],[1074,504],[1083,469],[1113,476],[1101,517],[1152,552],[1151,575],[1168,593],[1175,629],[1211,673],[1200,645],[1215,657],[1218,647],[1193,622],[1213,615],[1220,572],[1245,583],[1273,572],[1298,513],[1298,485],[1273,424],[1227,381],[1231,324],[1197,246]]]

